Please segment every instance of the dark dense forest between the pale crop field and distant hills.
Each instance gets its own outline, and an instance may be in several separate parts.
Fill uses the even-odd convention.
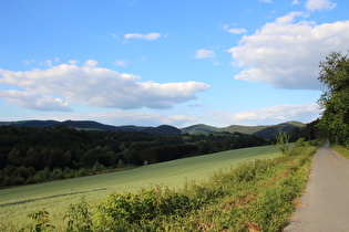
[[[0,186],[114,171],[188,156],[269,144],[244,134],[175,134],[0,127]]]

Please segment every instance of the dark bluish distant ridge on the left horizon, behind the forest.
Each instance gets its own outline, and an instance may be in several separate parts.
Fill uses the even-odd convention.
[[[19,120],[19,122],[0,122],[1,125],[14,125],[16,127],[57,127],[66,126],[75,129],[95,129],[95,130],[110,130],[110,131],[143,131],[150,134],[181,134],[182,130],[168,125],[162,125],[158,127],[138,127],[138,126],[111,126],[101,124],[93,120]]]

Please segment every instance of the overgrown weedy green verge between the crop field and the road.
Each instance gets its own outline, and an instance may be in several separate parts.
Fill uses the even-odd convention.
[[[317,149],[296,147],[287,156],[249,161],[179,190],[114,193],[95,205],[83,200],[70,204],[64,223],[68,231],[279,231],[305,189]],[[48,214],[40,213],[29,228],[50,225]]]

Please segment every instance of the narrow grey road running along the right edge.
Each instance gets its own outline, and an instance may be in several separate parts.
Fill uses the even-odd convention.
[[[328,145],[314,157],[304,207],[284,231],[349,231],[349,159]]]

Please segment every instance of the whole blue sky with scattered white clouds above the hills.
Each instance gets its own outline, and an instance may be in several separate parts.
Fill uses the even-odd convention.
[[[0,120],[310,123],[348,0],[0,0]]]

